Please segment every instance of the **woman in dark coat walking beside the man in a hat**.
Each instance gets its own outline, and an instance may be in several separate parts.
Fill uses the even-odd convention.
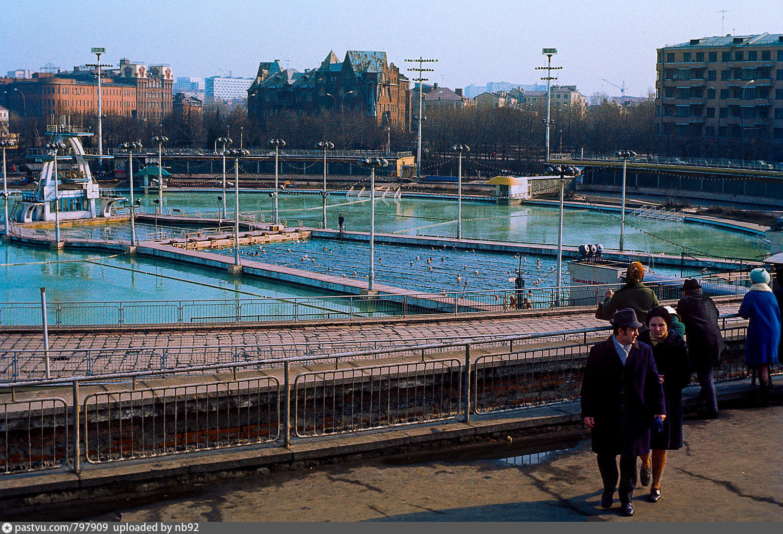
[[[641,456],[639,482],[648,485],[652,471],[652,485],[648,500],[657,503],[661,500],[661,477],[666,465],[666,451],[677,450],[683,446],[683,399],[682,391],[691,381],[691,367],[688,365],[685,341],[672,329],[673,316],[669,306],[655,306],[644,318],[648,330],[639,334],[639,341],[652,347],[655,367],[659,380],[663,384],[663,397],[666,402],[666,420],[653,421],[650,436],[652,466],[650,454]],[[652,468],[651,468],[652,467]]]

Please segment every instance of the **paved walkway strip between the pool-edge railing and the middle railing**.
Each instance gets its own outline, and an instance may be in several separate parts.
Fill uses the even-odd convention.
[[[739,302],[719,305],[720,313],[736,313]],[[116,348],[139,346],[192,345],[279,345],[319,341],[410,340],[432,337],[508,336],[555,330],[576,330],[607,326],[595,319],[594,311],[576,311],[557,316],[514,316],[499,319],[420,319],[395,323],[364,323],[348,325],[291,325],[290,327],[253,327],[224,329],[205,325],[200,332],[131,330],[128,332],[94,332],[49,334],[49,348]],[[0,333],[0,350],[31,350],[43,348],[41,334]]]

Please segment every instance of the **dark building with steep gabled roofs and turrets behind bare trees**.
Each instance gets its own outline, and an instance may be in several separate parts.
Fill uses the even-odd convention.
[[[355,111],[376,117],[378,124],[407,128],[410,124],[410,81],[386,52],[349,50],[340,61],[329,52],[317,69],[280,70],[275,60],[258,67],[247,89],[247,115],[265,121],[282,110],[298,113]]]

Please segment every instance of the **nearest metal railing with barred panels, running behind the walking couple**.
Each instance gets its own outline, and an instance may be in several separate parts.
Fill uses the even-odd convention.
[[[82,457],[88,462],[106,462],[249,443],[289,446],[292,426],[295,437],[309,438],[460,415],[467,421],[471,413],[567,402],[578,396],[590,345],[604,337],[609,328],[332,352],[282,361],[259,359],[191,366],[167,370],[166,374],[190,376],[193,382],[193,375],[209,373],[210,380],[143,389],[135,388],[135,384],[159,380],[161,373],[115,373],[101,377],[96,384],[99,390],[88,392],[83,400],[80,387],[90,387],[95,379],[71,377],[5,384],[6,390],[11,389],[12,399],[4,403],[7,415],[0,432],[5,433],[9,445],[0,449],[0,464],[7,474],[57,467],[70,459],[74,471],[79,471]],[[713,371],[716,381],[748,376],[742,363],[745,328],[738,323],[723,327],[728,348]],[[565,341],[550,341],[553,337]],[[487,350],[489,346],[493,352]],[[484,353],[471,361],[471,352],[482,348]],[[458,357],[443,358],[447,351]],[[432,355],[440,358],[433,359]],[[294,363],[304,366],[334,359],[337,366],[339,361],[368,356],[382,358],[384,363],[301,370],[291,376]],[[282,381],[271,376],[280,373],[281,364]],[[268,377],[237,377],[240,371],[261,366],[272,366],[266,372]],[[771,370],[781,371],[780,364]],[[228,373],[224,380],[219,379],[221,373]],[[112,381],[129,378],[132,388],[112,391]],[[16,394],[15,388],[62,385],[70,385],[74,391],[70,423],[64,399],[15,398],[25,395]],[[40,423],[45,417],[56,419],[51,424]],[[80,435],[82,429],[85,432]],[[60,437],[49,439],[52,435]],[[44,447],[49,449],[39,453]],[[28,452],[19,454],[17,450]],[[70,450],[73,453],[69,456]]]

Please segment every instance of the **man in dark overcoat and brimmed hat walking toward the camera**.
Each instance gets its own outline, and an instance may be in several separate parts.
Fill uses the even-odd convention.
[[[593,452],[604,482],[601,507],[612,506],[618,481],[622,514],[633,515],[637,456],[650,452],[650,424],[666,418],[663,388],[650,345],[637,343],[636,312],[612,316],[612,337],[590,348],[582,382],[582,418],[592,429]]]

